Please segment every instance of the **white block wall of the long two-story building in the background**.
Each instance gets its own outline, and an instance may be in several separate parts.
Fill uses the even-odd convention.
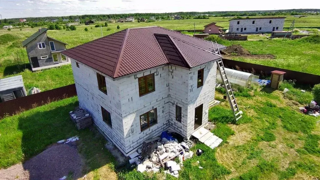
[[[271,20],[271,23],[269,21]],[[237,22],[239,24],[237,24]],[[254,24],[252,24],[254,21]],[[271,32],[273,27],[274,31],[282,31],[284,26],[284,18],[268,18],[268,19],[235,19],[229,20],[229,32],[231,33],[260,33],[260,32]],[[278,27],[278,29],[276,29]],[[239,28],[237,30],[237,28]],[[243,28],[243,32],[241,32]],[[246,28],[246,30],[244,30]],[[258,28],[258,31],[256,31]],[[260,29],[261,28],[261,29]]]

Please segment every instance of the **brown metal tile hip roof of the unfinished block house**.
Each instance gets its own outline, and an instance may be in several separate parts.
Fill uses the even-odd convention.
[[[161,27],[145,27],[125,29],[62,53],[116,78],[167,63],[192,68],[219,59],[221,56],[212,53],[216,49],[203,39]]]

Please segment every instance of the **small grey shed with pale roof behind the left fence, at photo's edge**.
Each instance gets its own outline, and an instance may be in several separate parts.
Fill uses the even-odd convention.
[[[0,79],[0,102],[9,101],[26,96],[22,76],[13,76]]]

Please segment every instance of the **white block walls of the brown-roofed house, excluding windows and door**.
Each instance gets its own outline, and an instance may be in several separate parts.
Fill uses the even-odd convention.
[[[98,88],[97,71],[80,62],[78,68],[76,60],[70,59],[80,107],[90,112],[94,124],[126,156],[144,140],[160,135],[164,130],[189,137],[195,131],[195,108],[200,104],[203,104],[201,127],[208,122],[208,104],[215,94],[215,61],[190,70],[166,64],[114,79],[104,75],[107,84],[107,94],[104,94]],[[204,85],[197,88],[200,69],[204,69]],[[154,74],[155,91],[140,97],[138,78],[149,74]],[[176,120],[176,105],[182,109],[181,123]],[[102,120],[100,106],[110,112],[112,128]],[[157,124],[141,132],[140,115],[155,108]]]

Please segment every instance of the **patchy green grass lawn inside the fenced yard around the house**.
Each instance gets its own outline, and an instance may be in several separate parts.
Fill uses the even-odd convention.
[[[202,143],[192,148],[204,150],[203,155],[184,161],[180,173],[185,179],[310,179],[320,177],[319,118],[298,112],[313,99],[307,91],[293,92],[284,97],[281,91],[259,88],[258,91],[235,92],[243,118],[234,122],[223,92],[217,89],[221,104],[209,110],[209,121],[216,124],[212,133],[223,143],[214,150]],[[304,102],[303,102],[304,103]],[[114,158],[104,148],[106,141],[95,128],[77,130],[68,112],[77,106],[72,97],[37,107],[0,120],[0,168],[27,160],[61,139],[78,135],[79,152],[86,167],[83,179],[161,179],[160,173],[141,174],[136,170],[116,172]],[[199,161],[199,163],[198,163]],[[203,167],[200,169],[199,166]],[[175,179],[167,176],[167,179]]]

